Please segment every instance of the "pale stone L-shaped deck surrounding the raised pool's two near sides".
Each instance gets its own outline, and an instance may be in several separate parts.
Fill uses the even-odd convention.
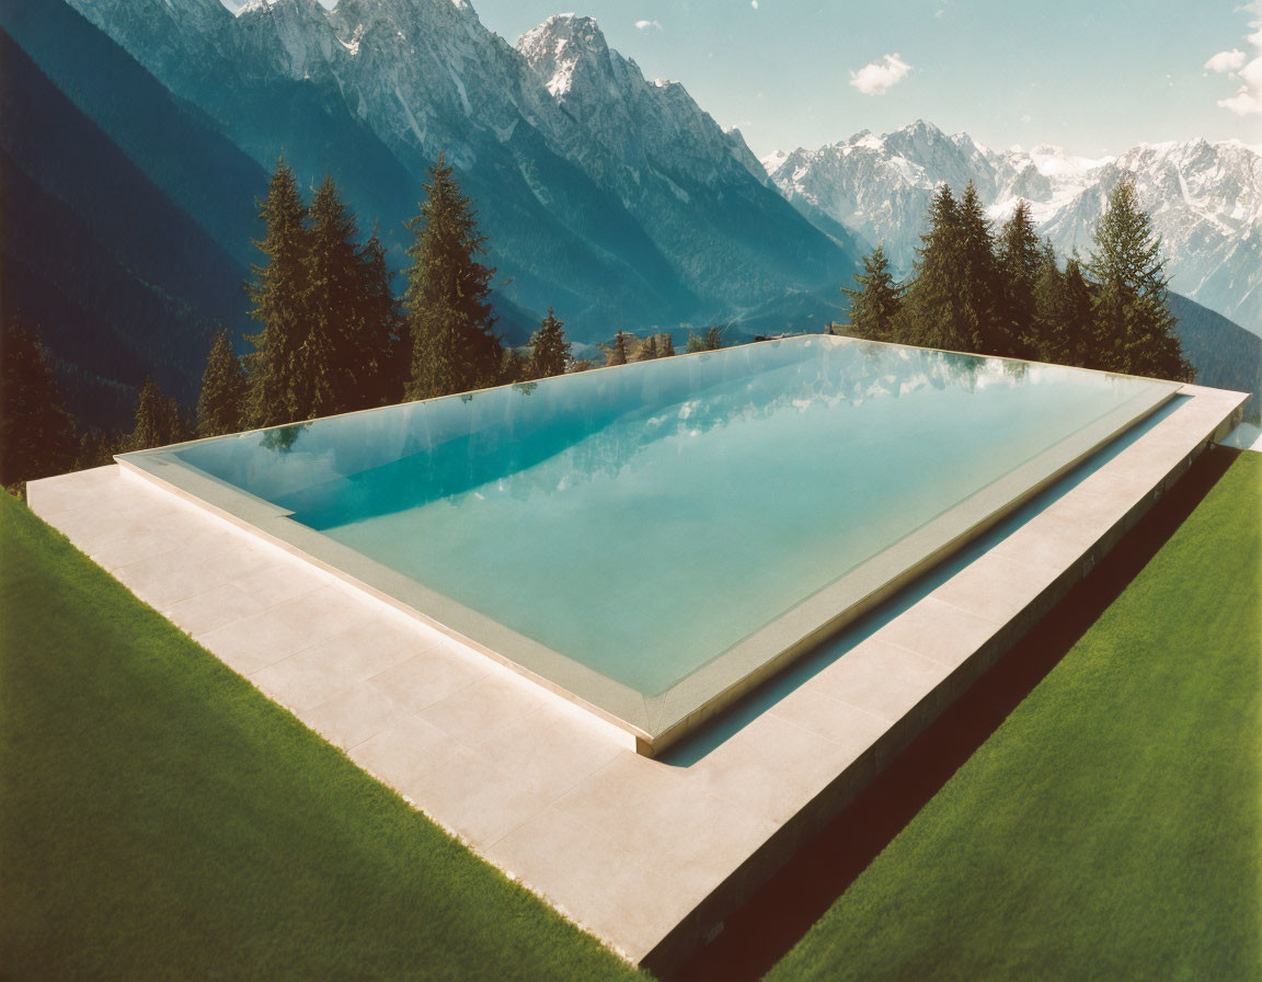
[[[116,464],[32,507],[262,693],[636,963],[664,968],[843,808],[1220,438],[1184,386],[1117,446],[661,760]]]

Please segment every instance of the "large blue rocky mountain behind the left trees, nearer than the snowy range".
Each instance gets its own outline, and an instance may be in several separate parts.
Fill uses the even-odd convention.
[[[577,333],[835,298],[858,249],[804,221],[676,82],[589,18],[517,47],[467,0],[67,0],[266,167],[333,173],[401,256],[425,168],[473,198],[504,294]],[[823,308],[820,308],[823,313]]]

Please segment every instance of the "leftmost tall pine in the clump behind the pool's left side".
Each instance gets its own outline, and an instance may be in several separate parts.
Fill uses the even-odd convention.
[[[254,303],[250,313],[262,329],[246,338],[255,350],[246,356],[245,422],[252,427],[270,427],[309,415],[305,411],[309,408],[307,386],[295,371],[300,348],[310,333],[307,206],[284,158],[276,163],[268,197],[259,202],[259,210],[266,235],[255,246],[266,256],[266,263],[254,266],[246,292]]]

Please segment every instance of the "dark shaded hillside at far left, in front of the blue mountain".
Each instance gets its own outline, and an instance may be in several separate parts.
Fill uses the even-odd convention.
[[[245,326],[245,269],[0,32],[0,297],[63,366],[85,423],[146,375],[192,403],[213,326]]]

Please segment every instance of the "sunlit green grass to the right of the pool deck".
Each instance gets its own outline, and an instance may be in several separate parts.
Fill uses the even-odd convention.
[[[769,977],[1262,978],[1259,592],[1244,453]]]

